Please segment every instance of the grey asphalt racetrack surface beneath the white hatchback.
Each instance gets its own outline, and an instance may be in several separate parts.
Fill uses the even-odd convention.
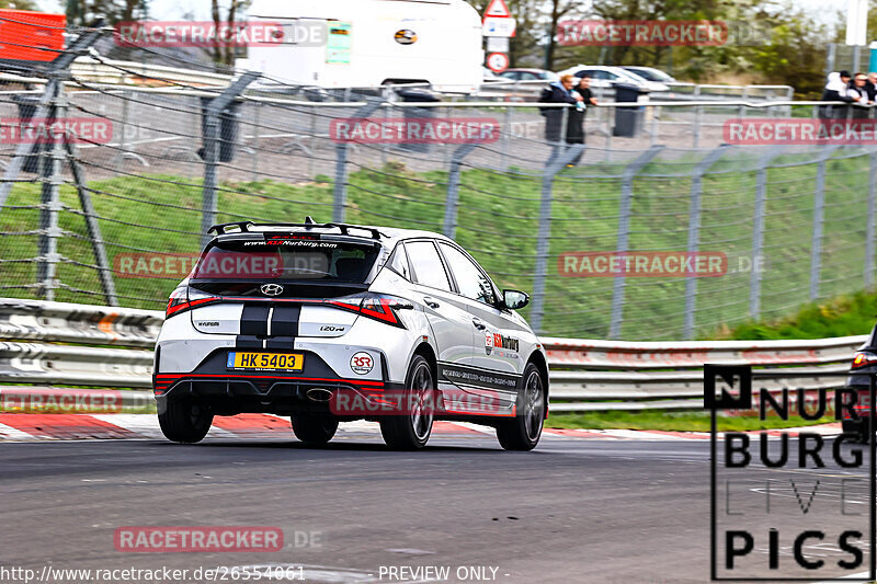
[[[389,451],[377,436],[321,449],[292,436],[7,442],[0,469],[7,566],[282,564],[304,566],[309,582],[428,581],[386,573],[420,565],[496,568],[492,582],[709,580],[708,440],[556,438],[532,453],[502,451],[489,435],[434,437],[419,453]],[[276,526],[286,545],[114,548],[119,526],[180,525]],[[295,533],[319,541],[297,547]]]

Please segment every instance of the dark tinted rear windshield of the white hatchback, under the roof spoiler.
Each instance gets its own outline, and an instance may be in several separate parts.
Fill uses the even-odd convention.
[[[198,260],[195,280],[363,284],[379,248],[375,243],[269,237],[219,241]]]

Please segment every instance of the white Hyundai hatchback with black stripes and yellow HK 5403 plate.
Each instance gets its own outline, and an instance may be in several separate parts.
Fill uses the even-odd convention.
[[[548,411],[545,350],[451,239],[343,224],[212,228],[168,301],[155,394],[169,439],[195,443],[215,415],[288,415],[324,444],[339,422],[380,423],[421,448],[433,420],[493,426],[506,449],[536,446]]]

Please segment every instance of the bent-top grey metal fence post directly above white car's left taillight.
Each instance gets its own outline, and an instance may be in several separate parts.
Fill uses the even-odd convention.
[[[260,75],[247,71],[234,83],[228,85],[223,93],[210,100],[204,114],[204,188],[201,216],[201,245],[209,243],[213,237],[207,233],[210,226],[216,222],[216,165],[219,158],[219,116],[235,98],[255,81]]]

